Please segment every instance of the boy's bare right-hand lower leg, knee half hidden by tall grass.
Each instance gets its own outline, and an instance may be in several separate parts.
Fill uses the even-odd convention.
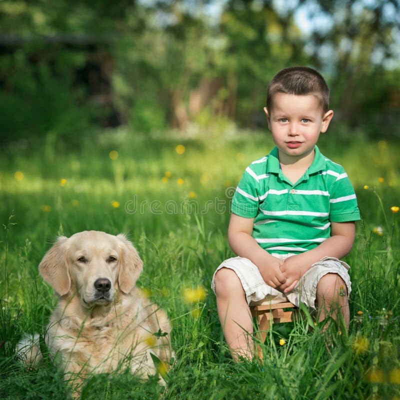
[[[338,274],[327,273],[319,279],[316,285],[316,300],[319,321],[329,314],[337,321],[337,313],[340,312],[348,329],[350,311],[347,286]]]

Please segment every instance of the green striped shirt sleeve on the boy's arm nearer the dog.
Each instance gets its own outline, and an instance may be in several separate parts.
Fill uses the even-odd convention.
[[[258,176],[256,172],[248,166],[241,177],[236,191],[232,197],[230,210],[245,218],[254,218],[258,211]]]

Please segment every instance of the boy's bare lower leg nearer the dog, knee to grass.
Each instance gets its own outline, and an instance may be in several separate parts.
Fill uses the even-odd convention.
[[[244,290],[236,273],[219,269],[214,276],[216,307],[233,359],[253,356],[253,324]]]

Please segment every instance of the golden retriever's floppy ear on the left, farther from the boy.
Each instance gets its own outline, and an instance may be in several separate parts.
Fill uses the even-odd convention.
[[[60,296],[66,294],[71,286],[66,254],[67,240],[65,236],[58,236],[55,244],[44,254],[39,264],[40,275]]]

